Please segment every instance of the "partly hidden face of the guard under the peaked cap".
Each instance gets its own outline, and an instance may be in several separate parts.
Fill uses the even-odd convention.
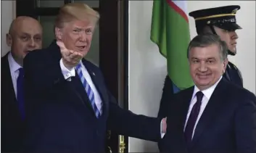
[[[220,39],[226,42],[226,44],[228,45],[228,49],[236,54],[236,39],[238,39],[236,31],[228,31],[218,27],[214,28],[215,32],[218,34],[218,36],[220,36]]]

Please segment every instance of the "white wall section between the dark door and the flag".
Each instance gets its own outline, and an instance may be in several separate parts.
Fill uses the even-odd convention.
[[[167,74],[165,58],[149,40],[152,1],[129,1],[129,109],[157,116]],[[157,152],[151,141],[129,138],[128,152]]]

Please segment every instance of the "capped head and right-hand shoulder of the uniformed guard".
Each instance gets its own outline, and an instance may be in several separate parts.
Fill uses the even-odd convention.
[[[236,30],[241,27],[236,24],[236,11],[240,7],[231,5],[226,7],[215,7],[190,12],[189,16],[194,17],[197,34],[213,33],[220,36],[222,41],[228,45],[228,54],[236,55]],[[223,75],[227,80],[243,87],[243,79],[239,69],[231,62],[228,62],[226,73]]]

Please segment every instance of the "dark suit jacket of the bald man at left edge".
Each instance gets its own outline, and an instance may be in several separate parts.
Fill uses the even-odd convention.
[[[1,57],[1,152],[18,152],[24,135],[24,122],[13,88],[8,54],[10,52]]]

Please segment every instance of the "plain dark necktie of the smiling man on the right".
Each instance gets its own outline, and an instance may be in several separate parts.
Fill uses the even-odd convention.
[[[197,102],[194,104],[193,108],[191,109],[189,120],[186,123],[186,129],[185,129],[185,138],[186,142],[189,144],[192,140],[192,133],[194,131],[194,125],[197,121],[197,117],[199,115],[200,107],[202,104],[202,97],[204,94],[202,91],[197,92]]]

